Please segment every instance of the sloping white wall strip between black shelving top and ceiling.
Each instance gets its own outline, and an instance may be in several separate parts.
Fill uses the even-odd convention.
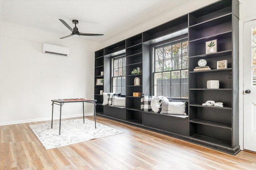
[[[144,23],[141,23],[140,25],[138,25],[137,27],[134,27],[133,29],[130,29],[129,31],[125,31],[122,34],[116,35],[115,37],[113,37],[112,39],[109,39],[108,41],[104,41],[98,49],[102,49],[104,47],[107,47],[108,45],[112,45],[114,43],[117,43],[129,37],[132,37],[133,35],[142,33],[148,29],[151,29],[153,27],[166,23],[170,20],[173,20],[185,14],[188,14],[189,12],[202,8],[208,4],[212,4],[213,2],[216,2],[216,1],[218,0],[190,0],[188,3],[184,4],[183,6],[180,6],[179,8],[170,10],[169,12],[162,14],[161,16],[158,16],[156,18],[153,18],[152,20],[148,20]]]

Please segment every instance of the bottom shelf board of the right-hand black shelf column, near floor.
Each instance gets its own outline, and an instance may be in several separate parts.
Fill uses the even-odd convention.
[[[213,145],[220,145],[220,146],[224,146],[224,147],[231,147],[231,142],[230,141],[224,141],[224,140],[220,140],[220,139],[216,139],[216,138],[212,138],[212,137],[207,137],[204,135],[192,135],[190,136],[191,139],[194,139],[195,141],[201,141],[204,143],[208,143],[208,144],[213,144]]]

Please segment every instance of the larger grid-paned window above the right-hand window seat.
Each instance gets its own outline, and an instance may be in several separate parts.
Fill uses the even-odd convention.
[[[188,98],[188,41],[153,47],[155,96]]]

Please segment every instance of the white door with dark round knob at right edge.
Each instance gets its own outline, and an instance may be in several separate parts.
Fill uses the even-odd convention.
[[[244,23],[244,149],[256,152],[256,20]]]

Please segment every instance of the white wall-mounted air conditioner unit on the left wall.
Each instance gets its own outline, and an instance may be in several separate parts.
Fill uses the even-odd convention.
[[[69,48],[43,43],[42,52],[51,55],[68,56]]]

